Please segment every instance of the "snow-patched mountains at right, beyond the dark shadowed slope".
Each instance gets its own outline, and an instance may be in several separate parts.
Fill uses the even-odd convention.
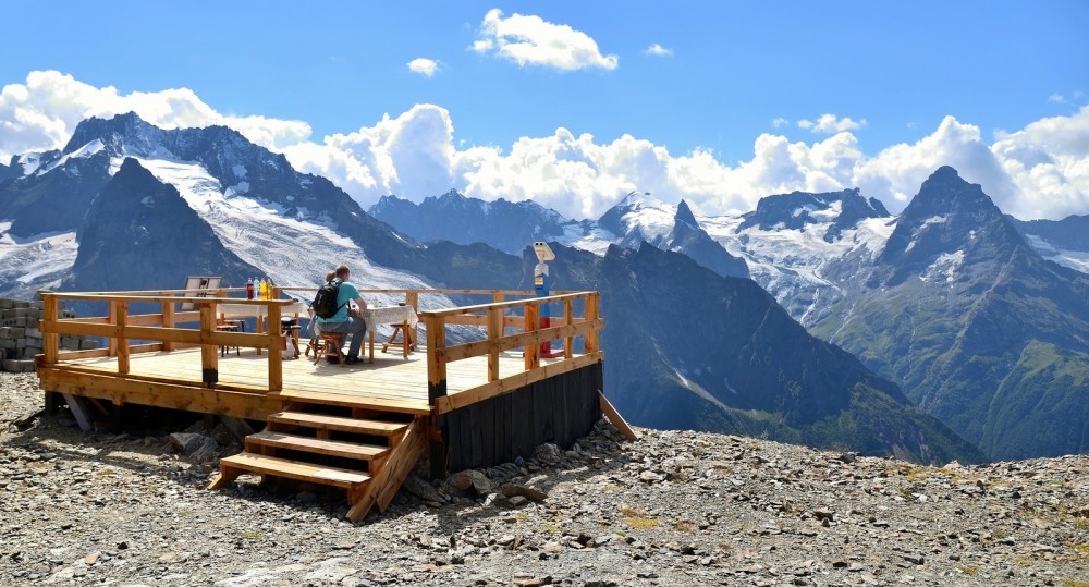
[[[666,236],[694,227],[743,259],[794,319],[988,456],[1089,450],[1089,277],[1072,270],[1089,266],[1089,217],[1003,217],[980,186],[941,168],[898,217],[847,189],[768,196],[736,216],[697,218],[684,203],[632,195],[597,221],[549,218],[563,243],[598,255],[647,242],[715,268]],[[458,223],[479,234],[491,225],[484,216]]]

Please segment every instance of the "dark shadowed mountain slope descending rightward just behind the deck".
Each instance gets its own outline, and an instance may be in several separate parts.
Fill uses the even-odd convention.
[[[601,292],[605,381],[625,417],[928,462],[983,455],[857,358],[806,332],[750,279],[649,244],[553,245],[554,272]]]

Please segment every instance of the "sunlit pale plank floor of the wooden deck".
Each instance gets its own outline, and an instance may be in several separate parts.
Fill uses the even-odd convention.
[[[366,350],[364,352],[366,354]],[[577,356],[577,355],[576,355]],[[541,365],[561,359],[540,359]],[[470,391],[488,382],[486,356],[470,357],[449,364],[446,390],[449,395]],[[65,360],[65,364],[91,368],[106,375],[118,371],[117,357],[94,357]],[[521,352],[500,353],[500,378],[513,376],[525,369]],[[169,353],[137,353],[130,358],[130,375],[192,380],[200,372],[200,350],[185,348]],[[268,389],[268,357],[253,348],[243,348],[236,356],[230,354],[219,359],[217,387],[244,387]],[[280,399],[325,399],[341,405],[366,406],[409,414],[429,414],[427,402],[427,351],[423,346],[404,358],[401,350],[390,353],[375,352],[375,363],[364,360],[355,365],[330,365],[302,357],[283,362],[283,391]]]

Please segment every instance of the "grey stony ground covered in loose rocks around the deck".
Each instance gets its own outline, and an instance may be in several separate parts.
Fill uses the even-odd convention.
[[[571,450],[413,479],[353,525],[335,492],[204,490],[236,447],[203,420],[87,433],[29,418],[41,403],[33,375],[0,374],[2,585],[1089,586],[1086,455],[937,468],[694,432],[627,443],[602,423]],[[187,426],[217,450],[175,452]]]

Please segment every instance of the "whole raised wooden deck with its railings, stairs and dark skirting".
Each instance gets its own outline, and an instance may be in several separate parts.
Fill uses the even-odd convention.
[[[399,326],[405,332],[417,328],[418,315],[427,344],[407,355],[407,344],[397,353],[371,350],[374,363],[285,359],[281,351],[291,330],[260,326],[280,325],[294,306],[277,289],[268,299],[234,297],[245,295],[243,289],[200,292],[218,297],[192,291],[44,292],[37,371],[46,405],[63,398],[87,429],[102,417],[120,425],[125,404],[264,420],[242,453],[220,461],[210,487],[248,474],[331,485],[347,491],[352,521],[371,507],[384,510],[425,448],[432,477],[443,476],[449,463],[498,464],[489,458],[528,456],[541,442],[573,441],[600,417],[604,355],[597,292],[371,292],[403,294],[401,305],[413,310],[413,320],[399,318]],[[419,311],[420,296],[450,293],[489,302]],[[64,299],[106,305],[107,316],[62,318]],[[548,305],[562,307],[562,317],[541,318]],[[132,311],[156,306],[159,311]],[[264,318],[254,332],[223,328],[229,325],[220,310],[236,306]],[[196,309],[182,309],[191,307]],[[62,352],[61,334],[99,337],[108,344]],[[221,356],[223,347],[229,352]],[[451,458],[453,452],[466,458]]]

